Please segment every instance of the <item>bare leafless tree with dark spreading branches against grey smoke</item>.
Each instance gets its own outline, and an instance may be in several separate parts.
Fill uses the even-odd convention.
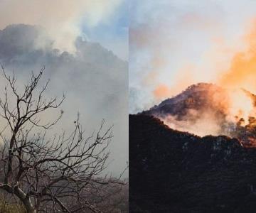
[[[43,113],[60,107],[65,97],[46,99],[49,81],[38,89],[45,68],[32,73],[21,93],[15,75],[7,75],[3,66],[1,70],[7,85],[0,98],[0,116],[6,121],[0,133],[0,189],[18,197],[28,213],[100,212],[95,204],[106,195],[102,191],[123,184],[120,177],[102,177],[112,127],[103,131],[102,122],[96,133],[84,137],[78,116],[68,136],[65,131],[47,136],[63,111],[47,124],[42,123]]]

